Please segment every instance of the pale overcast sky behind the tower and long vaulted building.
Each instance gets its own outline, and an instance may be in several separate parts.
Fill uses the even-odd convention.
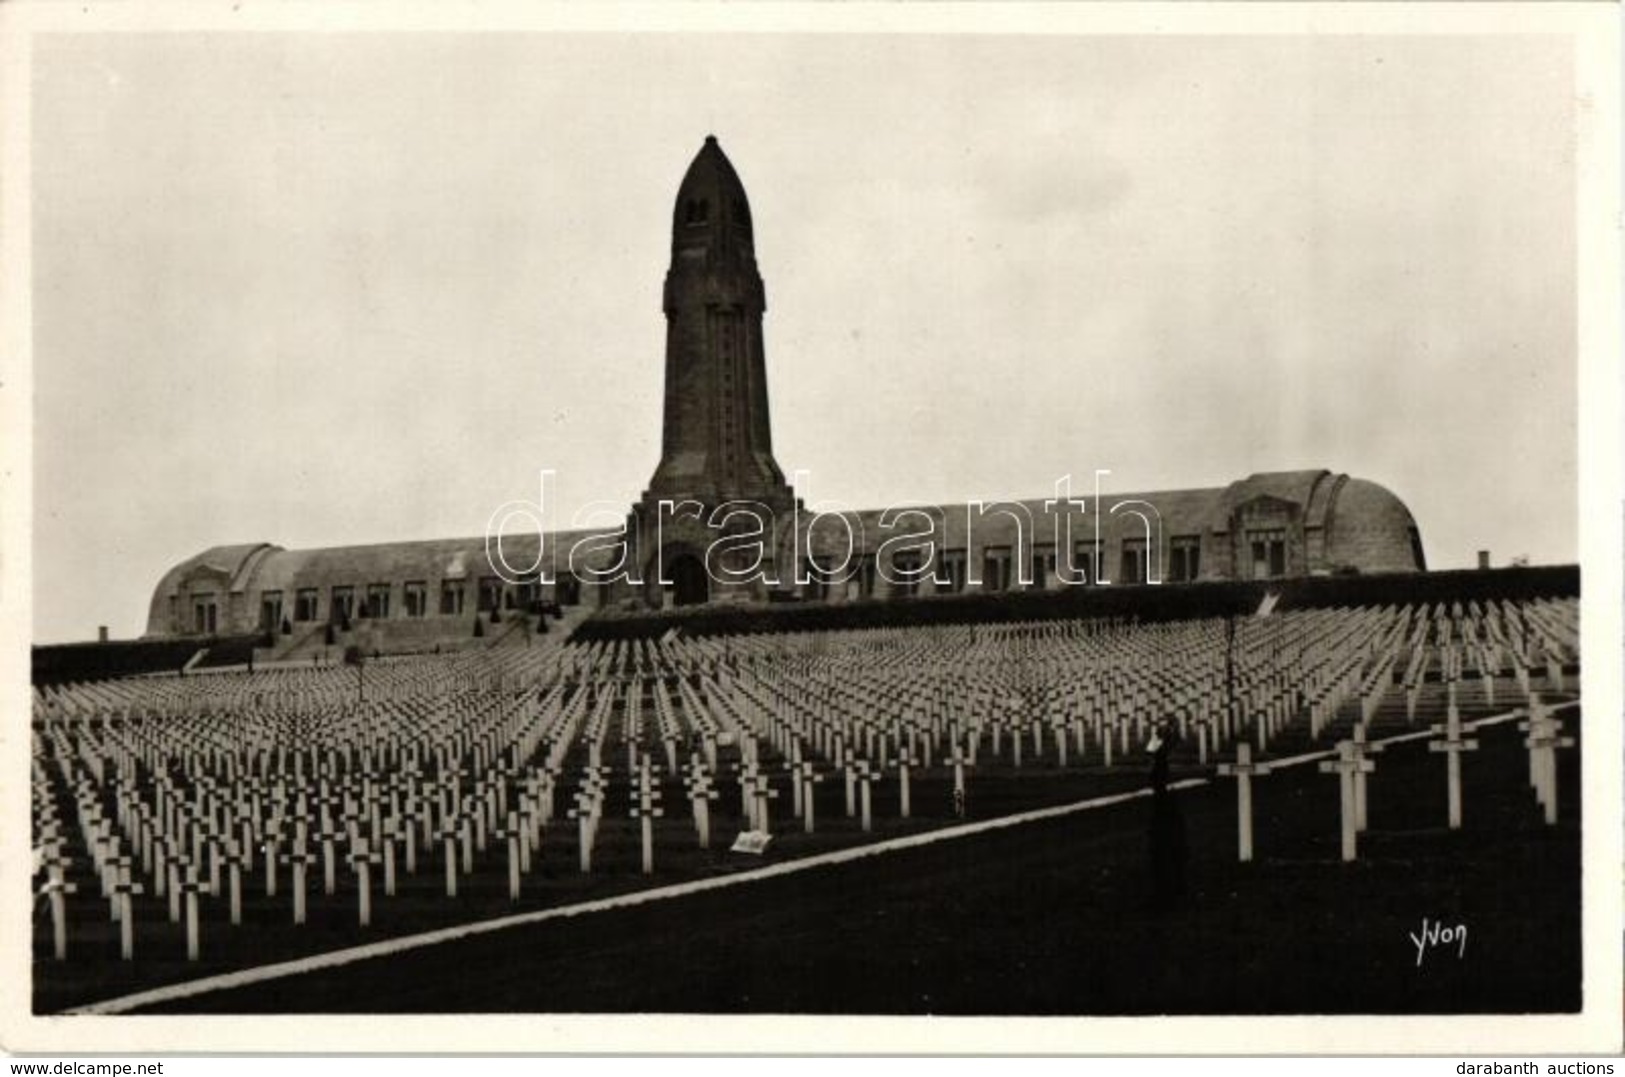
[[[671,200],[751,197],[774,448],[848,507],[1331,468],[1571,562],[1560,37],[34,42],[34,627],[221,543],[478,534],[660,450]]]

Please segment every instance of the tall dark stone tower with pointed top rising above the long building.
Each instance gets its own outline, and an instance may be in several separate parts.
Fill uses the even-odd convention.
[[[725,534],[702,523],[718,505],[746,500],[786,518],[793,507],[793,494],[774,460],[767,416],[762,348],[767,297],[756,268],[751,203],[715,136],[705,138],[678,187],[663,307],[666,391],[660,465],[634,508],[648,598],[694,603],[759,596],[759,586],[720,585],[705,562],[705,549]],[[689,512],[678,517],[666,512],[656,520],[661,502],[684,504]],[[694,505],[702,508],[702,520],[694,518]],[[764,536],[764,546],[772,562],[770,534]],[[702,578],[696,562],[712,570]]]

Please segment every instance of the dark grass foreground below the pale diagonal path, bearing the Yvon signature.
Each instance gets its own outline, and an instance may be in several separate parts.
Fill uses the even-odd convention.
[[[1570,715],[1575,731],[1578,710]],[[1482,726],[1477,737],[1479,750],[1462,755],[1462,828],[1454,832],[1446,827],[1443,754],[1410,741],[1373,757],[1368,830],[1354,863],[1339,858],[1339,780],[1316,762],[1253,780],[1256,859],[1250,864],[1237,863],[1233,780],[1212,778],[1175,793],[1191,850],[1190,885],[1185,900],[1165,911],[1149,900],[1150,801],[1134,799],[141,1012],[1575,1010],[1581,1002],[1580,752],[1557,755],[1558,822],[1547,825],[1529,788],[1529,752],[1516,723]],[[1120,772],[1116,788],[1144,783],[1142,772]],[[1211,770],[1175,776],[1191,775]],[[1014,809],[1017,801],[1094,794],[1108,785],[1087,775],[1040,778],[1038,772],[1011,781],[1048,789],[1043,796],[994,793],[996,781],[983,785],[973,775],[972,817]],[[916,794],[925,802],[942,789]],[[1001,796],[1009,802],[988,802]],[[834,799],[830,806],[834,819],[838,806]],[[889,827],[873,837],[930,825],[881,814]],[[835,828],[821,837],[858,840]],[[786,835],[765,859],[796,851]],[[632,840],[618,856],[635,858]],[[748,859],[696,853],[696,863],[670,871],[702,876],[756,866]],[[556,872],[549,900],[574,900],[569,864],[549,871]],[[424,874],[419,884],[432,889],[432,869]],[[663,869],[660,882],[674,877]],[[580,885],[575,897],[637,885],[635,864],[595,877],[590,893]],[[460,911],[500,915],[505,897],[471,893]],[[410,898],[395,902],[411,905]],[[440,903],[424,902],[424,908]],[[400,911],[392,908],[387,923],[390,931],[401,928]],[[358,932],[351,921],[340,928],[315,915],[309,928],[299,941],[309,949],[379,937]],[[1464,944],[1459,928],[1466,928]],[[1420,960],[1412,936],[1433,942]],[[221,944],[221,954],[228,945]],[[145,947],[153,957],[138,962],[140,986],[214,971],[213,960],[226,963],[211,952],[202,967],[179,958],[153,965],[166,949],[179,947],[159,941]],[[36,963],[39,1009],[124,988],[75,983],[47,965]]]

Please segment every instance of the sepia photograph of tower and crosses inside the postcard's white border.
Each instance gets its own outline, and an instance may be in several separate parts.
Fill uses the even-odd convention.
[[[1573,86],[34,37],[32,1012],[1580,1012]]]

